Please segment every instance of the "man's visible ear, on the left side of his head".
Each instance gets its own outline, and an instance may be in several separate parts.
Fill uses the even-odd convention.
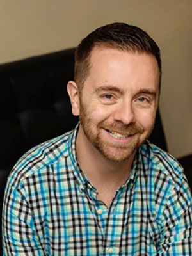
[[[74,116],[79,116],[79,90],[74,81],[69,81],[67,84],[67,92],[70,97],[72,113]]]

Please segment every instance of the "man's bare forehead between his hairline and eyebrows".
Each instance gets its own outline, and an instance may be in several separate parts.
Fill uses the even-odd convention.
[[[152,54],[128,52],[114,47],[93,48],[90,56],[89,84],[109,83],[146,86],[159,86],[159,67]]]

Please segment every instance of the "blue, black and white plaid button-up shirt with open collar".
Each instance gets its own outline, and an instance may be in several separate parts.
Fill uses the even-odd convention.
[[[33,148],[10,174],[4,255],[192,255],[191,194],[177,161],[141,145],[108,209],[79,168],[76,134]]]

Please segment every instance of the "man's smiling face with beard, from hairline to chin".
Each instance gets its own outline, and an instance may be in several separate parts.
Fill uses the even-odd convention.
[[[154,127],[159,69],[154,56],[95,47],[79,97],[79,132],[111,161],[134,156]]]

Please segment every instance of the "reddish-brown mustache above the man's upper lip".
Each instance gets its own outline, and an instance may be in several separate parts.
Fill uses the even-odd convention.
[[[123,135],[132,135],[132,134],[136,134],[136,133],[141,134],[144,132],[143,127],[140,127],[140,126],[134,125],[134,124],[129,124],[129,125],[118,124],[118,123],[108,124],[108,123],[104,122],[104,123],[101,123],[99,126],[103,129],[117,132],[117,133],[120,133]]]

